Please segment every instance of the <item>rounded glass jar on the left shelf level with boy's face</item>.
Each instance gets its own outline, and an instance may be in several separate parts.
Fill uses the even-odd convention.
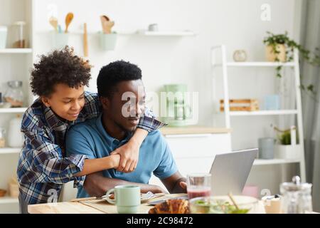
[[[9,81],[9,88],[6,90],[4,100],[11,105],[11,108],[23,107],[24,95],[22,91],[22,81]]]

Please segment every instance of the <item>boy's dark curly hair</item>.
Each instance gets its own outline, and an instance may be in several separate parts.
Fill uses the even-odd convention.
[[[89,61],[73,53],[73,48],[65,46],[40,56],[40,61],[33,64],[31,71],[31,89],[34,95],[50,96],[58,83],[70,88],[88,86],[91,78]]]

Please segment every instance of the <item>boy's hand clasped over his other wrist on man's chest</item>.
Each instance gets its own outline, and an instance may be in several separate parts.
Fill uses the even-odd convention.
[[[126,144],[114,150],[110,155],[120,155],[119,172],[133,172],[138,164],[140,145],[129,140]]]

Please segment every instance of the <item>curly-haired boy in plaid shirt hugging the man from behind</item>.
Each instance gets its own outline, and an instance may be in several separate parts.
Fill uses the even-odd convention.
[[[18,162],[21,213],[28,204],[56,202],[63,183],[83,183],[92,172],[117,168],[132,172],[137,166],[139,147],[148,131],[161,127],[159,121],[144,116],[139,129],[113,156],[87,159],[85,155],[65,157],[65,133],[71,125],[100,115],[95,93],[85,92],[91,78],[88,61],[68,47],[41,56],[31,72],[31,88],[39,98],[23,115],[25,137]]]

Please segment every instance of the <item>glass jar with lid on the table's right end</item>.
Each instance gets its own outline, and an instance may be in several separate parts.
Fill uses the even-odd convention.
[[[300,177],[292,177],[292,182],[280,185],[282,194],[282,212],[284,214],[306,214],[312,212],[311,187],[309,183],[301,183]]]

